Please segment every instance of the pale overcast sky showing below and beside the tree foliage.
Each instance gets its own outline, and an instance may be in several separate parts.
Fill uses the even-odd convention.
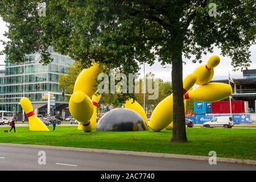
[[[6,23],[3,22],[2,18],[0,17],[0,39],[1,40],[6,40],[5,36],[3,36],[4,32],[8,31],[7,27],[6,27]],[[2,43],[0,43],[0,51],[3,50],[3,45]],[[256,46],[251,46],[250,48],[251,51],[251,67],[250,68],[256,68]],[[218,67],[216,67],[214,69],[214,77],[220,77],[220,76],[225,76],[228,77],[228,72],[231,73],[231,75],[241,75],[242,73],[240,71],[238,72],[233,72],[232,69],[232,65],[231,65],[231,59],[230,57],[224,57],[220,54],[220,49],[214,48],[214,52],[213,53],[208,53],[207,55],[203,55],[203,63],[206,63],[206,61],[209,59],[209,57],[211,55],[218,55],[221,58],[221,62],[218,65]],[[0,56],[0,64],[4,64],[4,59],[5,56]],[[187,76],[188,74],[192,73],[193,70],[200,65],[199,63],[193,64],[191,60],[188,59],[184,59],[183,60],[187,63],[184,64],[183,66],[183,78],[185,78],[185,76]],[[146,64],[146,73],[147,72],[152,72],[155,74],[156,77],[158,78],[162,78],[164,81],[171,81],[171,68],[170,65],[166,65],[166,67],[168,68],[163,68],[163,66],[160,63],[155,63],[154,65],[152,65],[151,67],[149,65]],[[0,69],[3,69],[4,67],[0,67]],[[141,75],[143,75],[143,65],[141,65]]]

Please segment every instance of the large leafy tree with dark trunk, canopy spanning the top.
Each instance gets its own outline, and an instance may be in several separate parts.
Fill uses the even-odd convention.
[[[38,2],[46,3],[39,16]],[[215,3],[214,15],[210,3]],[[210,5],[210,6],[209,6]],[[209,13],[210,12],[210,13]],[[125,73],[138,64],[172,64],[174,130],[172,141],[185,142],[183,104],[184,55],[200,61],[213,46],[230,56],[234,67],[250,64],[255,43],[255,0],[2,0],[0,15],[8,23],[5,43],[9,59],[23,61],[24,53],[40,52],[48,63],[48,46],[89,65],[98,60]]]

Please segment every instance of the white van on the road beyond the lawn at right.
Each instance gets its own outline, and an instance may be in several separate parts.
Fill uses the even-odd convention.
[[[232,128],[234,126],[234,122],[232,117],[229,116],[220,116],[215,117],[209,122],[205,122],[203,124],[204,127],[225,127],[225,128]]]

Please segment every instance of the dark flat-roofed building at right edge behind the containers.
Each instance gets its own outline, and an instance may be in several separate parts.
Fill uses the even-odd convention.
[[[242,75],[232,76],[234,84],[232,100],[248,101],[249,112],[255,113],[256,100],[256,69],[246,69]],[[228,76],[216,77],[211,82],[229,83]]]

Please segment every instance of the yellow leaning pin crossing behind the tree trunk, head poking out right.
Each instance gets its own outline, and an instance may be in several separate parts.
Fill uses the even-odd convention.
[[[196,82],[196,75],[190,74],[183,81],[183,93],[191,89]],[[173,94],[161,101],[153,111],[149,126],[154,131],[161,131],[172,122],[173,117]]]

